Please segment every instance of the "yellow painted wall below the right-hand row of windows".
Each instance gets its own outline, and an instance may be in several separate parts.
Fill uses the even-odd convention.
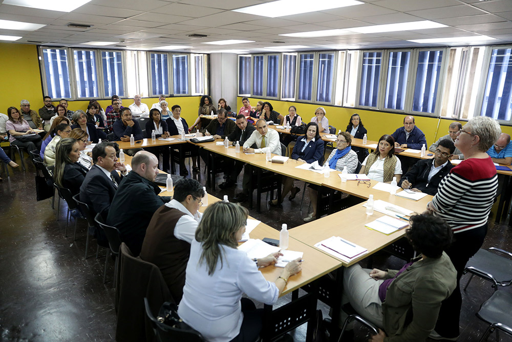
[[[258,97],[251,97],[249,100],[251,106],[256,106],[259,100],[265,101],[264,98]],[[311,120],[311,118],[314,116],[316,108],[319,107],[318,105],[315,104],[305,104],[300,102],[279,100],[269,100],[269,102],[272,104],[274,110],[280,112],[281,114],[283,114],[283,116],[288,114],[288,108],[290,106],[295,106],[297,108],[297,114],[301,115],[302,119],[305,122],[309,122]],[[237,108],[240,109],[240,107],[242,106],[242,97],[238,97]],[[336,127],[336,130],[342,129],[343,131],[345,131],[347,125],[349,124],[350,116],[354,113],[359,114],[362,123],[368,130],[369,140],[377,140],[383,134],[393,133],[398,127],[403,126],[403,117],[405,116],[404,114],[377,112],[372,110],[362,110],[356,108],[334,106],[322,107],[324,107],[324,109],[327,112],[326,117],[329,119],[329,125]],[[429,146],[430,144],[435,143],[439,137],[448,134],[448,126],[453,121],[453,119],[439,119],[434,117],[415,116],[416,126],[418,126],[418,128],[421,129],[423,133],[425,133],[426,142]],[[460,123],[464,125],[464,122],[462,120],[460,120]],[[512,135],[512,127],[501,126],[501,129],[503,133],[508,133]],[[426,146],[426,148],[428,149],[429,146]]]

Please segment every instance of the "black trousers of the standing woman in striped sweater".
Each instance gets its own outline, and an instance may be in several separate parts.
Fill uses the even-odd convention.
[[[457,287],[452,295],[441,303],[441,310],[437,318],[435,331],[443,337],[456,337],[459,335],[460,308],[462,296],[460,294],[460,277],[469,260],[482,247],[487,234],[487,224],[479,228],[454,234],[452,246],[446,250],[452,264],[457,270]]]

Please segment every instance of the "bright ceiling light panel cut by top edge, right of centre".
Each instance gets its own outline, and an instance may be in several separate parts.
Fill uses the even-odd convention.
[[[266,4],[239,8],[233,11],[275,18],[278,16],[323,11],[361,4],[364,3],[356,0],[278,0]]]

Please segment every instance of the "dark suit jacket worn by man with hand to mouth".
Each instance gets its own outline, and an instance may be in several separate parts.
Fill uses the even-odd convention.
[[[121,184],[117,171],[112,171],[111,174],[117,184]],[[116,190],[117,187],[112,182],[112,178],[109,178],[98,166],[93,165],[80,187],[80,200],[89,206],[94,215],[99,213],[103,219],[106,219]]]

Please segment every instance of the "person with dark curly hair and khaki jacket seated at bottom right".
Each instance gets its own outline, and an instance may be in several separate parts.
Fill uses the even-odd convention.
[[[432,215],[414,215],[406,236],[420,255],[400,270],[345,268],[342,305],[377,327],[371,341],[424,341],[434,329],[441,302],[456,287],[456,271],[443,252],[452,242],[450,227]],[[342,311],[341,318],[346,314]],[[339,322],[343,324],[342,322]]]

